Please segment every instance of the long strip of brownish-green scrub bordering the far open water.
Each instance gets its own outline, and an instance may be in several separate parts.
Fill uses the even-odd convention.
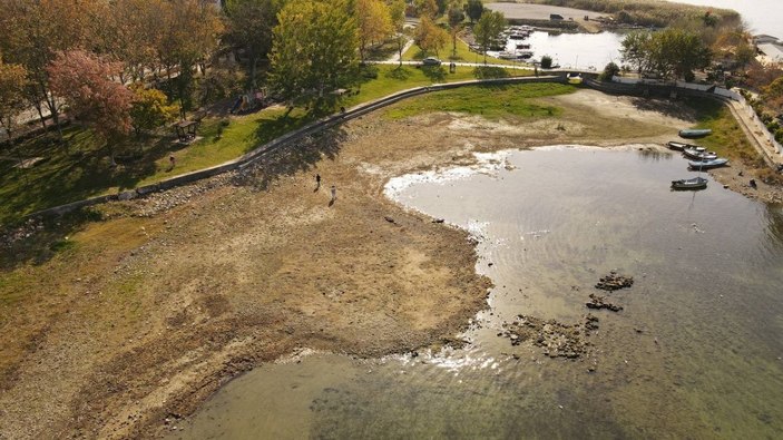
[[[720,27],[741,23],[740,13],[663,0],[535,0],[537,3],[611,14],[620,23],[667,27],[683,20],[705,20]]]

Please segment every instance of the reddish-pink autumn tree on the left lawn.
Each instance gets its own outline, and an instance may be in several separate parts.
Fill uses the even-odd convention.
[[[107,143],[111,164],[114,141],[130,131],[134,95],[112,81],[121,70],[82,50],[58,52],[48,68],[51,89],[62,97],[71,116],[79,118]]]

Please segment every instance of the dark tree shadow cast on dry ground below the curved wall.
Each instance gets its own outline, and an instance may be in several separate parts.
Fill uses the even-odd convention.
[[[322,159],[334,159],[346,138],[342,127],[334,127],[265,154],[236,177],[236,183],[267,190],[281,177],[310,170]]]

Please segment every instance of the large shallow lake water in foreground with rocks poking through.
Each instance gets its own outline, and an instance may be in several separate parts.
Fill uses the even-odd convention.
[[[495,283],[464,350],[314,354],[229,382],[173,438],[783,438],[783,208],[692,176],[668,153],[550,147],[392,179],[400,203],[480,238]],[[498,336],[517,314],[575,323],[578,360]],[[594,371],[590,371],[594,370]]]

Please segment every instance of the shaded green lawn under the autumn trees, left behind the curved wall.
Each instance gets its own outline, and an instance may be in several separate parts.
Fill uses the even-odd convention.
[[[46,160],[28,169],[14,167],[16,160],[0,160],[0,224],[13,223],[23,215],[82,198],[115,194],[165,178],[206,168],[236,158],[256,146],[293,130],[311,119],[295,109],[286,119],[283,110],[270,108],[231,118],[217,139],[219,119],[205,119],[199,141],[182,146],[173,136],[131,139],[119,146],[119,166],[111,167],[108,151],[91,131],[71,126],[65,130],[68,148],[59,146],[53,134],[26,141],[17,148],[23,157]],[[2,153],[16,157],[17,153]],[[126,156],[126,157],[123,157]],[[169,170],[169,156],[176,166]]]

